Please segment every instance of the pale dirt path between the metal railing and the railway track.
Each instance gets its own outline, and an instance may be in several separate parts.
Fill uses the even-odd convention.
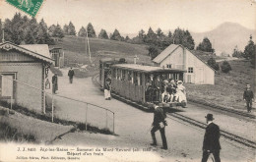
[[[62,136],[62,139],[56,140],[54,144],[69,144],[75,146],[83,143],[87,146],[101,147],[150,147],[151,135],[149,129],[153,122],[152,113],[146,113],[115,99],[104,100],[103,93],[93,84],[91,78],[75,78],[74,83],[70,84],[68,82],[67,70],[63,71],[63,77],[59,78],[59,90],[57,93],[59,95],[94,103],[113,111],[115,113],[115,134],[119,136],[73,133]],[[56,110],[59,117],[85,122],[85,104],[71,102],[59,97],[56,97],[56,103],[60,106],[58,110]],[[91,107],[88,116],[94,117],[89,121],[90,123],[97,124],[102,128],[106,125],[104,111],[96,111],[96,107]],[[109,118],[108,127],[111,128],[111,115],[107,114],[107,116]],[[202,118],[204,119],[204,116],[202,116]],[[171,119],[167,119],[167,122],[166,136],[169,149],[166,151],[159,150],[157,157],[160,160],[200,161],[204,130],[186,126]],[[157,138],[160,145],[159,133],[157,133]],[[246,147],[224,139],[224,137],[222,137],[221,143],[223,146],[221,153],[222,159],[224,159],[223,161],[247,161],[254,157],[254,154],[248,151]],[[146,154],[142,153],[142,155]],[[154,153],[154,155],[156,154]],[[164,159],[162,159],[162,157],[164,157]],[[151,161],[150,158],[144,160]]]

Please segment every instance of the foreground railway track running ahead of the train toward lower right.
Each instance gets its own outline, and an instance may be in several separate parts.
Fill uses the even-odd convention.
[[[207,127],[207,124],[205,124],[205,123],[196,121],[194,119],[191,119],[189,117],[186,117],[186,116],[178,114],[178,113],[167,113],[167,116],[168,116],[168,118],[173,117],[173,118],[181,120],[185,123],[188,123],[190,125],[199,127],[201,129],[205,129]],[[224,136],[225,138],[236,141],[236,142],[241,143],[243,145],[246,145],[248,147],[256,148],[256,142],[254,142],[252,140],[249,140],[249,139],[246,139],[244,137],[241,137],[239,135],[234,135],[234,134],[228,133],[228,132],[223,131],[223,130],[221,130],[221,135]]]

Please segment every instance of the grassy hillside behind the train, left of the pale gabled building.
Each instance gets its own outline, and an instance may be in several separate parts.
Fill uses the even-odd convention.
[[[90,38],[89,41],[92,60],[96,61],[96,64],[97,60],[101,57],[125,58],[128,62],[133,62],[135,55],[139,58],[139,63],[151,64],[151,58],[148,56],[146,45],[98,38]],[[85,37],[65,36],[56,45],[64,49],[65,58],[69,60],[69,63],[89,63]]]

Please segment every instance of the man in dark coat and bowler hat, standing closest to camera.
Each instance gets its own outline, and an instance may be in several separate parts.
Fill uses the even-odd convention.
[[[216,162],[221,162],[220,128],[213,123],[213,114],[207,114],[205,118],[208,126],[204,136],[202,162],[207,162],[210,153],[213,153]]]

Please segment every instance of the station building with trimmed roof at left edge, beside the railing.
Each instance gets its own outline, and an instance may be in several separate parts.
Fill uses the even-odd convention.
[[[45,110],[45,75],[54,64],[48,45],[0,44],[0,100],[36,112]],[[17,80],[17,81],[13,81]]]

